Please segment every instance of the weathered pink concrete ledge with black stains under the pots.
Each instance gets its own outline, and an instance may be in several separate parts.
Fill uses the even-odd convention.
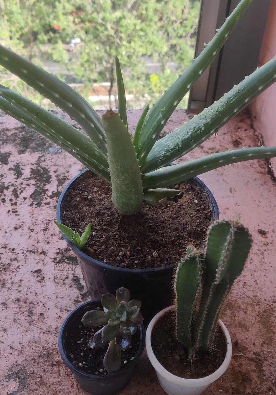
[[[131,130],[140,113],[129,111]],[[166,132],[189,117],[175,111]],[[68,312],[87,294],[77,261],[53,224],[62,188],[83,167],[3,113],[0,128],[0,394],[84,394],[60,359],[57,336]],[[257,145],[252,119],[243,111],[188,156]],[[222,313],[233,359],[206,395],[275,393],[276,188],[267,172],[267,162],[257,160],[200,177],[213,192],[220,217],[240,213],[253,235],[250,258]],[[122,394],[163,393],[144,354]]]

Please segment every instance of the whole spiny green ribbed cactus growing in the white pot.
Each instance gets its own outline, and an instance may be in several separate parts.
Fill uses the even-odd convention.
[[[240,275],[251,237],[238,223],[216,221],[208,230],[205,255],[192,246],[175,276],[176,337],[190,358],[211,348],[223,302]]]

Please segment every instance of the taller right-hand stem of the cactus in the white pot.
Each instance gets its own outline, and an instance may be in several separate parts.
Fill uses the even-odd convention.
[[[195,347],[212,344],[223,301],[240,275],[251,247],[247,229],[238,223],[215,222],[209,229],[205,283],[195,324]]]

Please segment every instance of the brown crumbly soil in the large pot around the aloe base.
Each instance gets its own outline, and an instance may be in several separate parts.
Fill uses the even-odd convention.
[[[144,205],[140,213],[122,216],[113,206],[111,187],[89,171],[68,191],[63,223],[83,232],[90,222],[84,252],[102,262],[135,269],[176,263],[189,243],[204,244],[212,209],[201,189],[190,183],[175,187],[184,192],[178,203]]]

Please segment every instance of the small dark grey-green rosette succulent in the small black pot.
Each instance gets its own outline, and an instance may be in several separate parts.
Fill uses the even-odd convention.
[[[140,313],[141,302],[130,300],[130,291],[122,287],[111,293],[102,295],[101,308],[87,311],[81,322],[90,328],[105,326],[98,330],[92,341],[92,349],[105,346],[109,342],[103,365],[108,373],[116,372],[121,367],[121,350],[131,345],[131,335],[137,330],[137,324],[143,324]]]

